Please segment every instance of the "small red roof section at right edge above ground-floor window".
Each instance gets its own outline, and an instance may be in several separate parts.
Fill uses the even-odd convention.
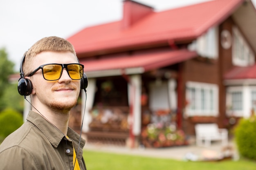
[[[256,79],[256,65],[235,67],[224,76],[225,79]]]

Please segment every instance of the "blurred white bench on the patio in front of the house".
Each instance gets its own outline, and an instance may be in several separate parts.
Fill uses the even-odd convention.
[[[211,141],[218,140],[225,146],[228,143],[228,132],[227,129],[218,128],[217,124],[196,124],[195,139],[197,146],[210,146]]]

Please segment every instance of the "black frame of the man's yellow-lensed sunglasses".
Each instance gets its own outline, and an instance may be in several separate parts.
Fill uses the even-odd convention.
[[[68,76],[70,76],[70,73],[68,72],[68,69],[67,69],[67,66],[68,66],[68,65],[76,64],[76,65],[80,65],[80,66],[82,66],[82,68],[84,68],[83,64],[79,64],[79,63],[70,63],[70,64],[56,64],[56,63],[51,63],[51,64],[43,64],[43,65],[40,65],[38,68],[36,68],[34,71],[32,71],[32,72],[28,75],[28,77],[31,77],[31,76],[34,75],[38,70],[42,69],[42,74],[43,74],[43,77],[44,77],[45,80],[48,80],[48,81],[55,81],[55,80],[58,80],[58,79],[53,79],[53,80],[46,79],[46,78],[45,78],[45,75],[44,75],[44,73],[43,73],[43,67],[44,67],[44,66],[53,65],[53,64],[54,64],[54,65],[62,66],[61,73],[60,73],[60,77],[58,77],[58,79],[61,78],[61,75],[62,75],[62,72],[63,72],[63,68],[66,68],[67,74],[68,74]],[[82,73],[82,77],[83,77],[83,73]],[[81,78],[82,78],[82,77],[81,77]],[[70,77],[70,78],[71,78],[71,77]],[[80,78],[80,79],[81,79],[81,78]],[[72,78],[71,78],[71,79],[72,79]],[[73,79],[73,80],[79,80],[79,79]]]

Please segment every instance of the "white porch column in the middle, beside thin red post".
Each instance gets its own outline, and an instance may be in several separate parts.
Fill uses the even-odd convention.
[[[132,106],[132,133],[138,136],[141,132],[141,75],[130,76],[128,93],[129,105]]]

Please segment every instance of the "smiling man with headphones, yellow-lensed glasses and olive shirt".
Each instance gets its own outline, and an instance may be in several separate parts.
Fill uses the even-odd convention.
[[[20,75],[19,93],[30,94],[32,110],[0,145],[0,170],[86,170],[85,140],[68,127],[84,79],[72,44],[39,40],[23,57]]]

